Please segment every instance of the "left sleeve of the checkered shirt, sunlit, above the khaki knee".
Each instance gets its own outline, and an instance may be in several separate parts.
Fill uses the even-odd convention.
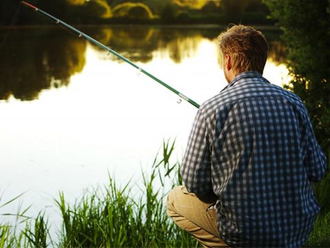
[[[181,175],[188,192],[195,194],[212,192],[210,144],[201,108],[195,116],[188,138]]]

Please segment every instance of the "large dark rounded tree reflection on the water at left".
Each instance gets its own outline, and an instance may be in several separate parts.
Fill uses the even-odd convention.
[[[68,85],[84,68],[85,50],[85,41],[57,29],[12,30],[0,51],[0,99],[31,101],[41,90]]]

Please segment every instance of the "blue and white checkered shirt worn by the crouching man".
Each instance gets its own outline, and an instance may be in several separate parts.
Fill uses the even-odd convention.
[[[320,207],[311,182],[326,158],[305,105],[259,72],[243,72],[197,112],[181,174],[188,192],[216,194],[232,246],[300,247]]]

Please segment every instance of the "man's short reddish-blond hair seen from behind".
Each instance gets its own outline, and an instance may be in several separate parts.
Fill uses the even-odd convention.
[[[233,25],[219,34],[218,41],[223,55],[230,55],[236,74],[252,70],[263,74],[268,43],[261,32],[245,25]]]

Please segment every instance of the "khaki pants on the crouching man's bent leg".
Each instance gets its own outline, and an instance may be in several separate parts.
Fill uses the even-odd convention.
[[[178,186],[167,198],[167,214],[181,229],[188,231],[203,247],[228,247],[217,229],[217,210],[209,209],[214,198],[198,198]]]

